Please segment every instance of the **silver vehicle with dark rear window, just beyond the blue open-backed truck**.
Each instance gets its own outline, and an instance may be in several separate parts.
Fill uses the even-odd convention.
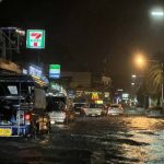
[[[67,105],[66,96],[47,96],[47,112],[50,124],[68,124],[75,119],[75,113]]]

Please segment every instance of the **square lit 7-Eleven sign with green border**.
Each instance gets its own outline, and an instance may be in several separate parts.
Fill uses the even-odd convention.
[[[27,48],[45,48],[45,31],[27,30],[26,47]]]

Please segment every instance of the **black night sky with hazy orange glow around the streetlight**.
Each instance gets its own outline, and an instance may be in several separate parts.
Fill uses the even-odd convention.
[[[155,0],[3,0],[0,26],[46,31],[46,49],[22,47],[15,61],[60,63],[63,71],[105,72],[117,87],[129,85],[132,55],[164,51],[164,21],[150,10]]]

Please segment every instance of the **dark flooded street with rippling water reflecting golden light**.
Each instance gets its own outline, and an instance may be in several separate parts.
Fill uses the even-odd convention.
[[[164,163],[164,119],[144,116],[78,118],[49,137],[1,138],[0,163]]]

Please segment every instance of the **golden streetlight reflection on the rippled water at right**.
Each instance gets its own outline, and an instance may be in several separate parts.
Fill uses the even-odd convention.
[[[133,117],[128,120],[129,139],[147,144],[131,145],[124,143],[125,156],[138,159],[140,163],[162,163],[164,147],[163,119]],[[131,129],[131,130],[130,130]]]

